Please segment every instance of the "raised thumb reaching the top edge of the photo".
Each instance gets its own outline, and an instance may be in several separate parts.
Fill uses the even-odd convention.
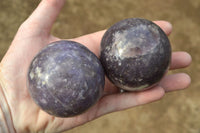
[[[50,32],[64,3],[65,0],[42,0],[39,6],[27,19],[27,25],[32,25],[35,29],[45,29]]]

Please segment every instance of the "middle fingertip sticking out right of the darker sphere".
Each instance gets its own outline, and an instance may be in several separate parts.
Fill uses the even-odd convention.
[[[170,69],[185,68],[192,62],[192,57],[187,52],[173,52]]]

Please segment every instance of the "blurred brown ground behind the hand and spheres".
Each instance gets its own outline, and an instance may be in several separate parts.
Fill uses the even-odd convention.
[[[18,27],[39,0],[0,1],[0,60]],[[200,0],[67,0],[52,33],[73,38],[103,30],[115,22],[140,17],[173,24],[173,51],[187,51],[192,84],[158,102],[105,115],[66,133],[200,133]],[[177,72],[177,71],[174,71]]]

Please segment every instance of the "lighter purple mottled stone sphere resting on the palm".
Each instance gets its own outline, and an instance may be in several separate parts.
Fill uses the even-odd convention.
[[[58,117],[79,115],[102,96],[105,83],[99,59],[85,46],[57,41],[32,61],[28,88],[34,101]]]

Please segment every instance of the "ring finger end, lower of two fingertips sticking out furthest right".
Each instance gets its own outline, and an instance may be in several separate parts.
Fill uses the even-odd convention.
[[[191,83],[191,78],[185,73],[177,73],[165,76],[159,85],[165,89],[166,92],[182,90],[187,88]]]

